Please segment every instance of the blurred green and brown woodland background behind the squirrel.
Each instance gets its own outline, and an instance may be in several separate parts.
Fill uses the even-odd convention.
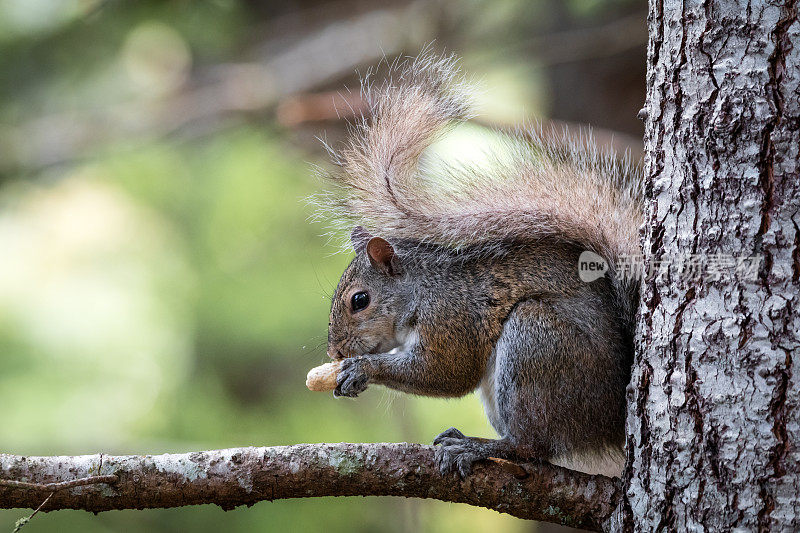
[[[637,155],[644,7],[0,0],[0,451],[492,436],[474,396],[305,389],[349,259],[304,202],[323,186],[317,137],[341,140],[357,70],[433,42],[479,80],[481,124],[591,123]],[[458,135],[446,157],[484,134]],[[0,531],[27,514],[0,511]],[[326,498],[60,511],[24,531],[536,527],[463,505]]]

